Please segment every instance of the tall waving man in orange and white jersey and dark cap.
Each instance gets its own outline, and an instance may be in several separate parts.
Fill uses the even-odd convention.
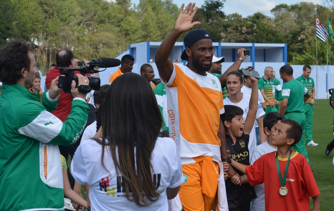
[[[206,30],[192,30],[184,37],[181,59],[188,60],[186,66],[169,60],[182,33],[200,24],[192,22],[198,10],[195,3],[189,3],[185,11],[183,8],[184,4],[173,30],[158,48],[155,63],[166,84],[169,135],[175,139],[182,161],[184,181],[179,195],[183,210],[211,210],[217,194],[217,178],[223,178],[218,173],[219,163],[221,159],[228,160],[220,120],[220,114],[224,113],[223,95],[218,78],[207,73],[211,68],[213,43]],[[236,173],[231,170],[229,175]],[[223,188],[220,191],[225,192]]]

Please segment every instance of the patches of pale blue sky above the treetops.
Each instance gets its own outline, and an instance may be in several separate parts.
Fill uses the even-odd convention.
[[[139,0],[131,0],[133,3],[138,4]],[[296,4],[302,1],[313,2],[314,4],[325,5],[325,0],[226,0],[224,12],[226,14],[239,13],[246,17],[256,12],[262,12],[264,15],[271,16],[270,10],[272,10],[277,4],[286,3]],[[181,7],[182,3],[189,3],[190,1],[173,0],[175,4]],[[201,6],[204,0],[194,0],[197,6]]]

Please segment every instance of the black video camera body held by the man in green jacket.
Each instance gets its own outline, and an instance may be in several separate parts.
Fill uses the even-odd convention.
[[[72,81],[74,80],[76,82],[76,87],[78,86],[78,78],[75,75],[75,71],[79,71],[81,75],[85,74],[92,74],[94,73],[94,68],[90,67],[82,67],[82,68],[64,68],[61,67],[59,70],[59,73],[61,76],[59,76],[59,83],[58,88],[62,89],[65,93],[71,93],[71,85]],[[64,76],[62,76],[64,75]],[[90,88],[84,88],[79,89],[81,93],[88,93],[91,90],[99,90],[101,85],[101,80],[99,77],[95,76],[87,76],[89,79],[89,85]]]

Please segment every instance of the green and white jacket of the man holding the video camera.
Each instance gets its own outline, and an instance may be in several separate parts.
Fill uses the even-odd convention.
[[[78,140],[89,106],[74,99],[62,122],[50,113],[57,107],[48,92],[30,93],[20,85],[1,87],[0,210],[64,209],[61,155],[57,145]],[[42,104],[43,105],[42,105]]]

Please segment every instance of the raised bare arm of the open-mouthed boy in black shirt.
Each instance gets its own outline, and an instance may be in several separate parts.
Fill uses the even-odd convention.
[[[245,126],[243,132],[249,134],[253,128],[256,112],[258,111],[258,79],[252,76],[252,73],[249,74],[249,79],[252,82],[252,94],[249,101],[249,111],[245,121]]]

